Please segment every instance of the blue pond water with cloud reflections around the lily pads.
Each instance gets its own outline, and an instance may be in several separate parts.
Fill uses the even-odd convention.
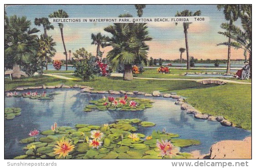
[[[35,91],[35,90],[33,90]],[[37,90],[39,93],[43,89]],[[251,132],[240,128],[221,126],[219,122],[195,119],[192,115],[186,114],[175,105],[175,99],[155,98],[152,99],[153,107],[139,112],[127,111],[99,111],[84,112],[84,107],[90,100],[102,98],[103,94],[80,93],[80,89],[46,89],[47,93],[57,92],[53,99],[26,99],[26,98],[5,98],[6,107],[21,108],[21,115],[15,119],[5,120],[5,159],[11,159],[24,153],[22,149],[25,144],[19,143],[23,138],[28,137],[31,130],[41,131],[51,128],[54,122],[58,126],[71,126],[75,124],[108,124],[116,119],[139,118],[143,121],[150,121],[156,124],[154,127],[138,127],[138,133],[150,135],[153,130],[164,128],[166,132],[178,133],[180,138],[197,139],[200,145],[193,145],[182,148],[182,152],[200,150],[201,153],[209,153],[213,143],[225,139],[243,139],[251,135]],[[107,96],[107,94],[105,94]],[[116,96],[119,97],[119,96]],[[139,96],[145,98],[144,96]]]

